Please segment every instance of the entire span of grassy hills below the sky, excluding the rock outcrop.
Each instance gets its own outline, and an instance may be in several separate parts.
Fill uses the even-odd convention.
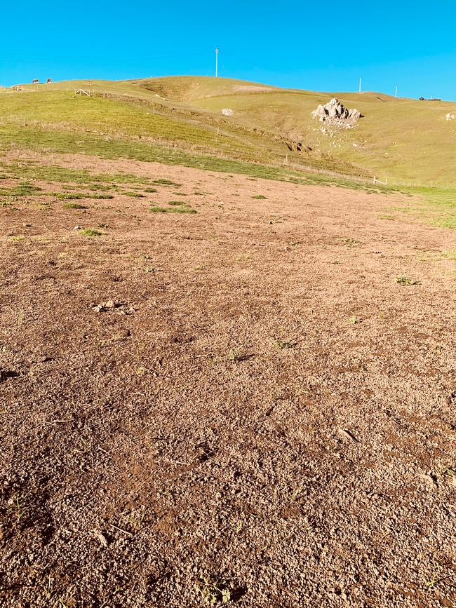
[[[93,94],[74,95],[83,88]],[[363,119],[330,133],[311,118],[337,96]],[[234,116],[222,116],[230,108]],[[0,144],[211,168],[222,161],[393,184],[455,184],[456,104],[315,93],[201,76],[71,81],[0,89]],[[300,146],[298,144],[302,144]],[[228,165],[226,165],[227,167]],[[232,170],[232,169],[227,169]]]

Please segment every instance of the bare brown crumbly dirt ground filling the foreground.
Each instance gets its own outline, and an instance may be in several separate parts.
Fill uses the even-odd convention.
[[[33,158],[182,185],[0,208],[0,605],[456,606],[455,233]]]

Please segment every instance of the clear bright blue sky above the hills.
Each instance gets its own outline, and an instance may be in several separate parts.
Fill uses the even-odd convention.
[[[456,100],[456,2],[2,2],[0,84],[215,74]]]

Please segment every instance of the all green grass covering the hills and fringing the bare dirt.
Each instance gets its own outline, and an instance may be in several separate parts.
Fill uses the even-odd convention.
[[[456,227],[456,140],[451,121],[443,120],[447,112],[456,113],[452,102],[419,102],[377,93],[326,94],[274,87],[264,90],[256,83],[200,76],[122,83],[94,81],[95,96],[90,98],[74,96],[74,86],[81,85],[82,82],[56,83],[58,90],[39,86],[38,91],[29,87],[24,93],[1,90],[0,151],[76,151],[100,158],[156,161],[243,174],[250,180],[337,186],[373,195],[391,194],[395,189],[381,184],[373,187],[372,183],[354,178],[389,175],[390,184],[394,179],[408,182],[401,191],[413,195],[410,205],[394,209],[396,213],[415,215],[438,227]],[[333,95],[348,107],[360,109],[365,118],[352,130],[326,137],[310,113]],[[222,116],[223,107],[234,109],[232,119]],[[312,151],[304,155],[290,151],[290,138],[301,140]],[[286,154],[289,164],[283,165]],[[33,180],[84,184],[88,189],[118,192],[119,184],[142,184],[147,187],[145,192],[154,192],[153,184],[176,189],[182,186],[165,178],[91,174],[86,170],[43,166],[37,161],[0,162],[0,170],[2,178],[20,180],[12,189],[1,188],[0,196],[32,196],[39,191]],[[422,182],[422,187],[413,185],[415,182]],[[432,188],[429,182],[433,183]],[[449,185],[444,187],[445,183]],[[94,194],[93,198],[108,196],[112,195]],[[176,196],[183,193],[177,192]]]

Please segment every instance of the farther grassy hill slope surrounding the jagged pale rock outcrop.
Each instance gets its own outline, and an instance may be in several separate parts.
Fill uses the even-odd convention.
[[[388,175],[391,182],[456,182],[456,121],[444,118],[445,114],[456,114],[454,102],[396,99],[380,93],[259,90],[261,86],[255,90],[253,83],[218,80],[220,85],[215,79],[171,77],[142,81],[140,87],[166,90],[169,97],[185,98],[193,106],[216,114],[222,108],[233,109],[240,122],[300,140],[333,158]],[[311,118],[312,110],[331,97],[356,107],[364,116],[356,128],[333,137],[324,135],[321,123]]]

